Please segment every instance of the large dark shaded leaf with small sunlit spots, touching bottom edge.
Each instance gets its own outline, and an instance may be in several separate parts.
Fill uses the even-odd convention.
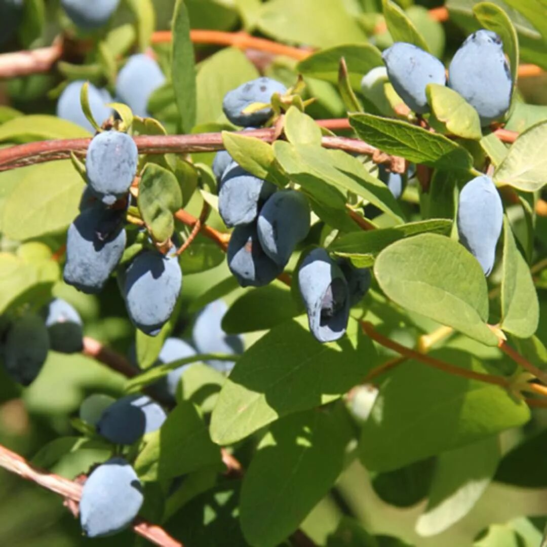
[[[351,438],[343,411],[289,416],[261,440],[241,487],[241,528],[251,545],[279,545],[333,485]]]

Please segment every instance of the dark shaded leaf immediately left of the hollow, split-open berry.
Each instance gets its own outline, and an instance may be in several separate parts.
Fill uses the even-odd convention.
[[[300,310],[287,287],[270,284],[240,296],[222,319],[226,333],[252,333],[271,329],[298,315]]]

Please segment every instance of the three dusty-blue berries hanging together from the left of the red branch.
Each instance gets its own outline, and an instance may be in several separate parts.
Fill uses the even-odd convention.
[[[100,292],[124,253],[125,211],[137,165],[137,147],[126,133],[104,131],[92,139],[85,162],[88,187],[68,229],[63,271],[65,282],[85,293]],[[155,336],[173,312],[182,271],[173,253],[144,249],[129,267],[118,269],[118,284],[133,324]]]

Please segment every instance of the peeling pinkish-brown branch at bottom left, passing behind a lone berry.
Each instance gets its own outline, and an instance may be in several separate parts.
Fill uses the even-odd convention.
[[[2,445],[0,445],[0,467],[73,502],[79,502],[82,497],[82,485],[79,482],[68,480],[45,469],[40,469],[36,465],[27,462],[24,457]],[[133,531],[139,534],[139,536],[148,539],[154,545],[184,547],[181,542],[172,538],[164,529],[144,519],[135,520]]]

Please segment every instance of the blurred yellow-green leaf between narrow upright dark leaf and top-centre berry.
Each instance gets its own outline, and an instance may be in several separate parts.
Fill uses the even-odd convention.
[[[180,68],[178,65],[176,67],[178,71]],[[236,48],[217,51],[202,61],[198,68],[196,124],[226,121],[222,112],[224,95],[259,76],[245,53]]]

